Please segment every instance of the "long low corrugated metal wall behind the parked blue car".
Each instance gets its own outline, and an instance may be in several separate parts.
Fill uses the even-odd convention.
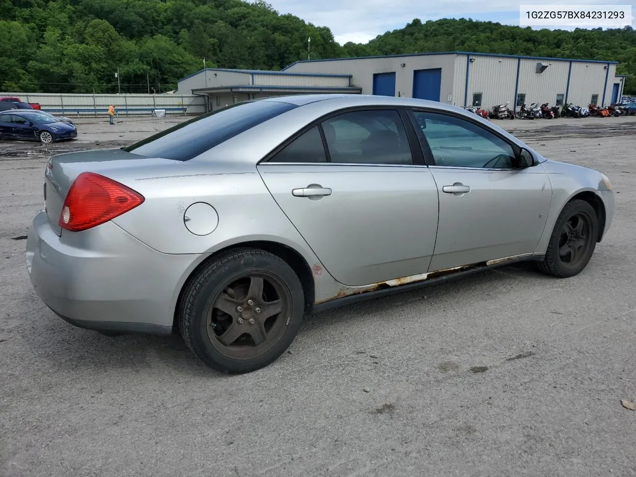
[[[127,114],[124,109],[146,108],[145,114],[150,109],[165,109],[168,107],[186,107],[188,114],[205,113],[205,98],[193,95],[176,94],[53,94],[53,93],[0,93],[0,96],[16,96],[25,102],[38,102],[45,111],[52,109],[64,109],[68,114],[95,115],[105,114],[109,105],[114,104],[119,114]],[[76,110],[73,111],[73,108]],[[84,109],[86,111],[78,111]],[[99,111],[96,111],[99,110]],[[166,111],[166,113],[179,113],[183,111]],[[130,114],[129,112],[128,114]]]

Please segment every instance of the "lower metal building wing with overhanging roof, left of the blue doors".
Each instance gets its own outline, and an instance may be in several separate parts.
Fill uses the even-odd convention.
[[[357,93],[352,75],[298,73],[294,71],[261,71],[252,69],[207,68],[180,79],[176,94],[207,97],[208,109],[247,99],[307,93]]]

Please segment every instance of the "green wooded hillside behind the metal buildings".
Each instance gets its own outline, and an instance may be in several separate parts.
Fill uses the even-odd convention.
[[[636,32],[533,31],[415,19],[365,45],[262,0],[0,0],[0,90],[165,92],[203,67],[282,69],[307,59],[463,50],[617,60],[636,93]]]

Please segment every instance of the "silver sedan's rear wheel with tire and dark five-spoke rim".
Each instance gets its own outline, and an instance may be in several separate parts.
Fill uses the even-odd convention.
[[[275,303],[271,298],[279,307],[267,304]],[[205,264],[188,281],[179,329],[207,366],[222,373],[249,373],[272,363],[291,345],[304,308],[303,287],[283,259],[259,249],[235,249]]]

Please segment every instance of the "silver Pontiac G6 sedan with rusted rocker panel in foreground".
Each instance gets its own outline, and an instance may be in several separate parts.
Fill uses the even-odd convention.
[[[609,179],[459,107],[240,102],[123,149],[53,156],[27,241],[39,297],[104,334],[180,331],[219,371],[272,363],[303,315],[534,261],[572,277]]]

